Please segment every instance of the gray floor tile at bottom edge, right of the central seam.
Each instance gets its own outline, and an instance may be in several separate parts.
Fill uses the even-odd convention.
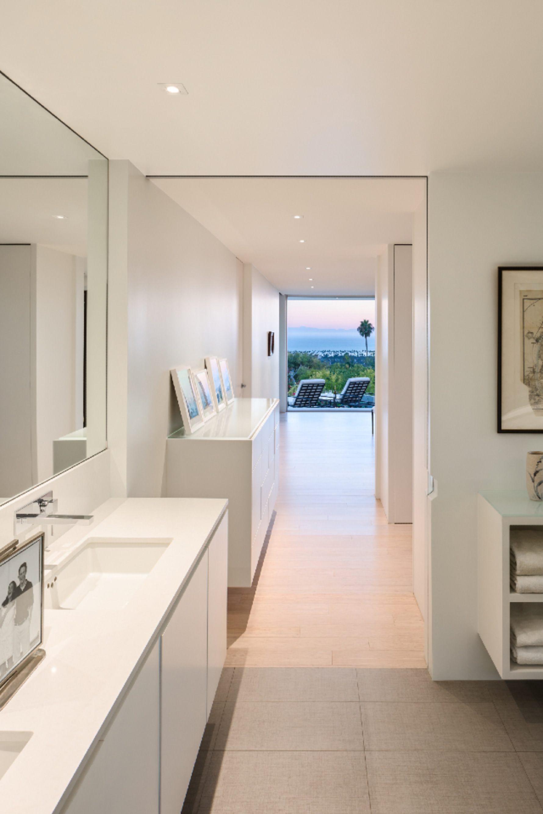
[[[517,755],[367,752],[372,814],[541,814]]]

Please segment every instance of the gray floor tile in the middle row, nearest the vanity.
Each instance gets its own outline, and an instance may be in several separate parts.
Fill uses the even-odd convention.
[[[357,703],[227,703],[215,749],[357,751],[364,748]]]

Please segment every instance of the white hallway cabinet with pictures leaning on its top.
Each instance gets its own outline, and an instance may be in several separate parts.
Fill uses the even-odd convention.
[[[235,399],[191,435],[171,435],[168,497],[227,497],[228,584],[252,584],[278,493],[278,399]]]

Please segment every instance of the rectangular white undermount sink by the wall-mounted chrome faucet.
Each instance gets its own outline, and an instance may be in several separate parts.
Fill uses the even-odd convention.
[[[119,610],[145,582],[168,545],[169,540],[89,540],[66,565],[46,577],[46,607]]]

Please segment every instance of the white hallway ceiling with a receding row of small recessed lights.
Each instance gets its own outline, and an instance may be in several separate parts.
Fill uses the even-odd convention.
[[[376,257],[387,243],[411,242],[412,212],[425,190],[422,179],[405,178],[153,183],[291,295],[373,295]]]

